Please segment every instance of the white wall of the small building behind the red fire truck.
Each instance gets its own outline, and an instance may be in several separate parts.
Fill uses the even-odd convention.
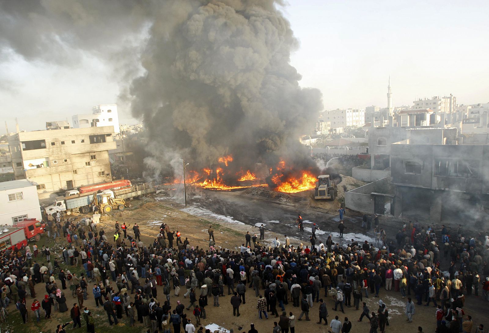
[[[22,200],[9,201],[8,195],[22,192]],[[0,224],[14,224],[12,218],[27,215],[28,219],[42,220],[36,185],[0,191]]]

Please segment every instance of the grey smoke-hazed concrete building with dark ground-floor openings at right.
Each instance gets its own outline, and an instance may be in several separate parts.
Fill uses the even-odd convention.
[[[433,223],[487,221],[489,145],[461,144],[456,129],[414,131],[391,147],[395,216]]]

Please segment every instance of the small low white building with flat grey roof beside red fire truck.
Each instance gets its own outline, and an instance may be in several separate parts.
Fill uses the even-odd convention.
[[[0,183],[1,225],[12,225],[24,219],[42,219],[36,187],[36,183],[27,179]]]

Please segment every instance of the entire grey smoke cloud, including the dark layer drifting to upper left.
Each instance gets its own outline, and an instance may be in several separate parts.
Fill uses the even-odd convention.
[[[116,69],[121,97],[149,130],[156,175],[178,159],[197,170],[233,155],[236,169],[284,159],[314,169],[298,135],[322,109],[301,88],[298,47],[278,0],[0,2],[0,49],[76,66],[87,53]],[[138,68],[144,74],[134,78]],[[130,84],[128,84],[128,82]],[[128,88],[129,89],[126,89]]]

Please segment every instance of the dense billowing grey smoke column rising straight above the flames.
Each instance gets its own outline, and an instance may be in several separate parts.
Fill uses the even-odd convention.
[[[298,42],[275,2],[162,8],[142,54],[147,73],[131,89],[133,114],[148,125],[158,157],[176,153],[194,169],[228,154],[237,169],[280,158],[312,167],[298,135],[317,119],[321,94],[299,87],[289,64]]]

